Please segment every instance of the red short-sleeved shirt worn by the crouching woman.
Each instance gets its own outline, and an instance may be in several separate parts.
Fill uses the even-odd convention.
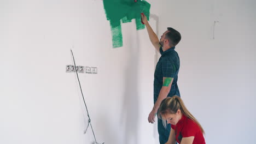
[[[183,137],[194,136],[193,144],[205,144],[201,128],[192,119],[182,115],[182,118],[176,125],[171,125],[175,130],[175,137],[178,143],[181,143]]]

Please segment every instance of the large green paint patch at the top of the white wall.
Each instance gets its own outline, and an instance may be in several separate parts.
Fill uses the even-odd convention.
[[[141,13],[148,17],[150,15],[150,4],[147,1],[133,0],[104,0],[103,1],[107,20],[110,22],[112,33],[112,46],[123,46],[123,35],[121,23],[136,21],[136,29],[144,29],[145,25],[141,23]]]

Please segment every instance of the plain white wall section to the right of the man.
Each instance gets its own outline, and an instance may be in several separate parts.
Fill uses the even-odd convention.
[[[254,143],[256,2],[161,4],[159,32],[173,27],[182,34],[178,85],[206,131],[206,143]]]

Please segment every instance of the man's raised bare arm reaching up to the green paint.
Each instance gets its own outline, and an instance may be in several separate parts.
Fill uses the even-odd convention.
[[[147,31],[148,31],[148,35],[149,35],[149,39],[150,39],[151,43],[153,44],[155,49],[158,50],[158,52],[160,52],[159,51],[160,44],[159,44],[158,35],[156,35],[155,32],[153,31],[153,29],[150,27],[148,20],[147,20],[147,16],[141,14],[141,18],[142,18],[142,21],[145,23],[145,26],[147,27]]]

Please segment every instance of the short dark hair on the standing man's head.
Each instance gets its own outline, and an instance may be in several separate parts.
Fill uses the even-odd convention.
[[[173,44],[176,46],[181,41],[181,34],[171,27],[167,27],[167,30],[169,32],[166,33],[165,38],[169,40],[169,45]]]

